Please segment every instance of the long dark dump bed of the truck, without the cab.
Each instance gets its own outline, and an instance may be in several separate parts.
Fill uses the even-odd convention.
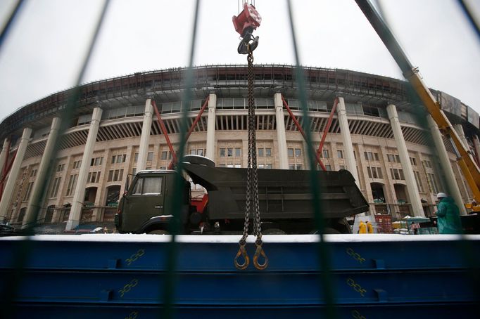
[[[196,184],[208,191],[210,219],[243,219],[246,169],[184,163]],[[262,219],[311,219],[310,174],[322,188],[324,219],[341,218],[368,210],[368,204],[349,171],[295,171],[258,169],[258,193]]]

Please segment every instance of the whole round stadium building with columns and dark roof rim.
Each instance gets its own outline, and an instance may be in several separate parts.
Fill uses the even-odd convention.
[[[450,193],[459,204],[472,200],[450,141],[422,114],[407,82],[349,70],[304,71],[312,147],[317,150],[331,119],[320,157],[327,170],[353,174],[370,203],[369,214],[432,216],[438,192]],[[308,145],[294,119],[301,124],[308,119],[298,101],[294,67],[255,65],[254,72],[258,168],[307,169]],[[220,167],[246,167],[247,67],[194,68],[189,105],[182,103],[185,77],[186,70],[177,68],[105,79],[82,86],[68,119],[61,113],[72,89],[6,117],[0,124],[0,219],[25,224],[39,207],[39,223],[68,229],[111,223],[127,175],[166,169],[172,160],[155,105],[175,150],[187,108],[193,129],[187,153]],[[478,159],[479,115],[447,93],[432,93]],[[61,124],[68,128],[59,134]],[[58,152],[50,157],[53,149]],[[203,192],[198,185],[192,189],[194,195]]]

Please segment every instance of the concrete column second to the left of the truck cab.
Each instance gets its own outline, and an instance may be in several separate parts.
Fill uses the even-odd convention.
[[[50,127],[49,138],[46,141],[44,154],[42,155],[42,160],[40,161],[40,166],[37,171],[37,178],[33,183],[32,194],[30,195],[30,200],[28,201],[27,211],[25,213],[25,219],[23,219],[23,228],[27,226],[34,226],[34,223],[37,222],[36,217],[38,216],[38,211],[42,207],[42,198],[44,192],[44,186],[48,183],[44,183],[46,178],[51,178],[47,176],[49,171],[49,165],[51,163],[51,156],[53,155],[53,149],[55,148],[55,143],[58,140],[58,129],[60,129],[61,119],[59,117],[53,118]]]

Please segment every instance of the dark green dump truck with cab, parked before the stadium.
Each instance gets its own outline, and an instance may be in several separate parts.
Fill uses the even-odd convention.
[[[175,170],[137,172],[115,215],[120,233],[168,233],[174,216],[181,221],[183,234],[242,232],[247,169],[215,167],[213,161],[198,155],[185,156],[182,167],[182,176]],[[310,174],[320,181],[325,233],[351,233],[346,217],[367,211],[368,204],[349,171],[258,169],[264,234],[315,233]],[[183,183],[182,194],[176,194],[182,209],[174,214],[173,187],[178,177]],[[191,198],[191,183],[205,188],[200,200]]]

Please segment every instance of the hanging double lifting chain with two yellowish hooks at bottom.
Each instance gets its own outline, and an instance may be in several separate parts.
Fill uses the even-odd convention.
[[[268,259],[262,249],[262,229],[260,225],[260,209],[258,205],[258,174],[257,174],[257,142],[255,136],[255,99],[253,98],[253,51],[248,45],[248,164],[247,164],[247,187],[245,202],[245,222],[244,235],[242,235],[239,245],[239,252],[236,253],[234,263],[236,268],[244,270],[248,267],[250,259],[246,252],[246,238],[248,237],[248,224],[250,215],[253,215],[253,235],[255,235],[255,245],[257,249],[253,255],[253,266],[258,270],[263,270],[268,266]],[[244,263],[239,263],[239,257],[244,259]],[[259,259],[263,258],[263,263]]]

